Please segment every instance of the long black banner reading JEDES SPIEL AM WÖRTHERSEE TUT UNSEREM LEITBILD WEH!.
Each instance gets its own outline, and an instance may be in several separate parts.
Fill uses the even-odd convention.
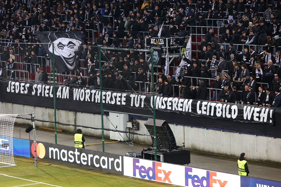
[[[39,102],[42,107],[53,107],[53,86],[18,81],[0,82],[1,102],[34,105]],[[100,112],[100,94],[105,110],[123,111],[142,115],[152,115],[152,95],[136,95],[136,93],[103,91],[95,89],[69,89],[56,86],[56,101],[61,104],[60,109],[73,110],[80,106],[83,112]],[[24,96],[24,100],[12,100]],[[206,100],[189,100],[172,97],[155,97],[155,109],[162,112],[222,119],[225,121],[239,121],[246,123],[273,124],[273,108],[252,105],[221,103]],[[167,113],[168,114],[168,113]],[[183,115],[183,117],[184,117]],[[227,123],[227,122],[226,122]]]

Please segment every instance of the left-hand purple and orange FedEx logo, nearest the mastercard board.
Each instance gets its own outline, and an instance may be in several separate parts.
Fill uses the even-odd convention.
[[[165,171],[161,169],[162,163],[159,162],[152,162],[152,167],[146,168],[145,166],[139,165],[139,159],[133,159],[133,176],[136,177],[136,172],[138,170],[138,174],[141,178],[145,179],[146,177],[149,180],[156,180],[160,182],[172,183],[170,180],[170,174],[172,171]],[[162,177],[163,175],[164,177]]]

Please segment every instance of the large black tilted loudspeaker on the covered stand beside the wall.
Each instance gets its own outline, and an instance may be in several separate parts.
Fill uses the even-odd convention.
[[[152,143],[154,143],[154,128],[153,128],[153,119],[149,118],[145,123],[145,127],[147,128],[149,134],[151,135]],[[176,139],[174,137],[174,133],[172,132],[170,126],[165,120],[155,120],[156,127],[156,147],[157,148],[165,148],[168,150],[172,150],[177,148]]]

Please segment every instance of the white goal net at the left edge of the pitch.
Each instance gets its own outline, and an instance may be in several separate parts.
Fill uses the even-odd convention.
[[[0,167],[16,166],[13,153],[13,129],[18,114],[0,114]]]

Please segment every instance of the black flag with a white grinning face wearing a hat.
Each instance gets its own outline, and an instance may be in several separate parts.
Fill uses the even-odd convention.
[[[79,31],[75,32],[38,32],[40,41],[43,43],[51,61],[54,55],[55,67],[58,72],[75,70],[79,66],[79,46],[83,45],[85,35]]]

